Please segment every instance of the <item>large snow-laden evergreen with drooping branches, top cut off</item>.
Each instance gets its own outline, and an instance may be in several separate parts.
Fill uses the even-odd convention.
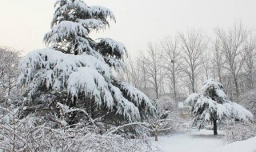
[[[28,87],[28,103],[54,110],[60,102],[82,108],[92,118],[106,114],[108,119],[130,122],[153,115],[150,99],[111,73],[112,67],[122,68],[126,47],[110,38],[94,41],[89,36],[90,31],[106,29],[109,19],[115,21],[111,10],[82,0],[58,0],[55,7],[44,38],[50,48],[30,52],[20,65],[19,83]],[[83,121],[79,115],[74,111],[66,121]]]

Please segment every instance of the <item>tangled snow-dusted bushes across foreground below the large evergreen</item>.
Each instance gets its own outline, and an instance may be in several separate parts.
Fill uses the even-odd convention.
[[[0,116],[0,151],[151,151],[147,138],[129,139],[111,131],[98,134],[99,128],[93,127],[97,119],[90,118],[86,124],[66,126],[61,119],[42,121],[43,118],[34,114],[20,119],[19,110],[0,108],[1,113],[5,112]]]

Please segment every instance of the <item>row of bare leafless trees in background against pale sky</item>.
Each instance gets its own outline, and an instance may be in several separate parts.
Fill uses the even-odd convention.
[[[210,37],[190,30],[149,43],[137,58],[127,58],[118,77],[133,83],[151,98],[170,94],[176,101],[198,91],[208,78],[226,86],[235,99],[254,89],[256,35],[240,24],[214,29]]]

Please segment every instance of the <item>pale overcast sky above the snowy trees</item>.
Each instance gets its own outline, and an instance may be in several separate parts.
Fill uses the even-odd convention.
[[[50,30],[54,0],[0,0],[0,46],[26,52],[45,47],[42,38]],[[131,54],[191,28],[212,33],[234,22],[256,29],[256,0],[85,0],[87,5],[110,8],[117,22],[93,38],[113,38]]]

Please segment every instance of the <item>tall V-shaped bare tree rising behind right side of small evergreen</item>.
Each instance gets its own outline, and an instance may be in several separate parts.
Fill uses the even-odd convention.
[[[239,96],[238,77],[246,61],[246,48],[244,46],[249,32],[243,28],[242,23],[234,25],[230,30],[215,30],[222,46],[222,55],[225,58],[224,67],[233,77],[236,96]]]

